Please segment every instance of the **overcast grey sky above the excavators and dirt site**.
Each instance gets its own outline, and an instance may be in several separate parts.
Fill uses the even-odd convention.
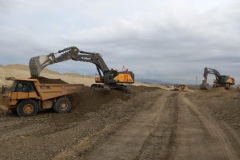
[[[201,83],[209,67],[239,84],[239,8],[240,0],[0,0],[0,64],[76,46],[139,79]],[[86,62],[47,68],[97,73]]]

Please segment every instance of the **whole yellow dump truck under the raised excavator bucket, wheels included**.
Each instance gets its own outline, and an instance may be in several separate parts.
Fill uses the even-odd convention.
[[[11,87],[2,86],[2,110],[16,112],[19,116],[34,116],[38,111],[53,108],[58,113],[69,112],[71,101],[66,95],[80,92],[83,84],[41,84],[38,79],[9,77]]]

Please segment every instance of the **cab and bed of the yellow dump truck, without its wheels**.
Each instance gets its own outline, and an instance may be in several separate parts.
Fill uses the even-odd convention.
[[[41,101],[62,97],[71,93],[83,90],[83,84],[41,84],[38,79],[32,78],[14,78],[8,77],[7,80],[14,81],[11,91],[3,92],[3,105],[16,105],[18,100],[22,99],[39,99]],[[23,84],[27,89],[19,88]],[[5,89],[4,89],[5,90]],[[10,100],[11,99],[11,100]]]

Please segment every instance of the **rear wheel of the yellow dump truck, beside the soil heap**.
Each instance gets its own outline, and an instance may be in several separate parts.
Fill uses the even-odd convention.
[[[71,110],[72,104],[68,98],[59,98],[53,106],[53,110],[58,113],[67,113]]]

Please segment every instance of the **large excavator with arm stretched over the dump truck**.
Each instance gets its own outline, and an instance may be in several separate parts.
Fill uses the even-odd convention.
[[[55,57],[55,54],[58,53],[62,54]],[[131,93],[129,85],[124,84],[134,83],[134,74],[132,71],[124,70],[119,72],[115,69],[109,69],[99,53],[81,51],[75,46],[59,50],[57,53],[32,57],[29,61],[31,77],[39,77],[40,72],[48,65],[67,60],[90,62],[96,65],[99,77],[96,77],[96,83],[91,85],[92,90],[107,92],[115,89]]]

